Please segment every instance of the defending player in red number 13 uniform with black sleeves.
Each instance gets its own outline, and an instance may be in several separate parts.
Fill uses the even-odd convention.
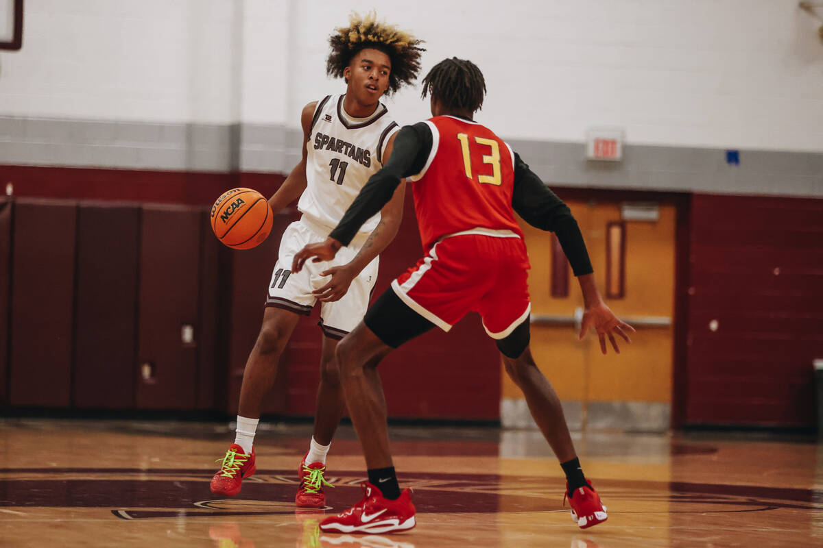
[[[394,348],[435,325],[448,331],[477,311],[495,338],[506,372],[523,390],[528,408],[551,445],[567,480],[566,495],[581,528],[606,520],[606,508],[584,477],[555,390],[537,369],[529,342],[527,270],[517,211],[532,226],[556,233],[583,291],[580,338],[593,327],[603,353],[606,338],[630,343],[634,332],[609,310],[595,286],[583,237],[569,208],[493,131],[474,122],[486,84],[469,61],[446,59],[423,80],[434,117],[403,127],[392,158],[360,191],[325,242],[295,255],[298,271],[309,257],[328,260],[363,220],[386,203],[402,177],[414,182],[417,222],[427,255],[374,302],[360,325],[337,346],[337,363],[351,421],[363,446],[369,481],[365,498],[320,524],[324,532],[393,532],[415,526],[409,490],[399,490],[388,448],[386,405],[376,366]]]

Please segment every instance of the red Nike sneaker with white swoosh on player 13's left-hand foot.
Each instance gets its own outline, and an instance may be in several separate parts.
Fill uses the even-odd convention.
[[[411,490],[404,489],[398,500],[388,500],[368,481],[360,486],[365,491],[363,500],[345,512],[325,518],[320,522],[320,531],[383,533],[407,531],[415,526]]]

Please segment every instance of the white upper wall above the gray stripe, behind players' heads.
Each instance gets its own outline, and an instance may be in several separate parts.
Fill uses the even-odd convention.
[[[343,89],[327,39],[374,0],[27,0],[0,53],[0,116],[286,124]],[[823,151],[821,25],[796,0],[418,0],[379,14],[425,39],[424,71],[477,62],[478,116],[513,139]],[[823,8],[820,9],[823,14]],[[427,115],[419,90],[388,103]]]

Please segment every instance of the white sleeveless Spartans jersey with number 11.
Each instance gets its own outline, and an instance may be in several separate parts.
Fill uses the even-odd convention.
[[[363,122],[351,122],[343,113],[343,95],[327,95],[314,110],[306,143],[306,179],[297,209],[309,220],[335,228],[365,183],[383,167],[388,138],[398,131],[388,109],[379,104]],[[370,233],[380,214],[366,221],[360,233]]]

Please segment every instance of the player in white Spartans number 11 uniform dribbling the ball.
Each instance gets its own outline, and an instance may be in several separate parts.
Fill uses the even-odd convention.
[[[303,158],[269,200],[277,213],[300,197],[303,214],[283,233],[260,329],[243,374],[235,443],[212,478],[216,495],[236,495],[255,470],[253,438],[263,398],[277,375],[277,361],[300,315],[321,302],[323,332],[320,385],[314,435],[300,463],[298,506],[325,505],[326,454],[344,409],[334,351],[337,341],[362,320],[377,279],[378,255],[392,241],[402,219],[403,187],[360,229],[355,242],[333,261],[313,263],[291,274],[292,258],[309,242],[323,239],[342,219],[360,188],[391,154],[398,124],[380,99],[409,84],[420,70],[421,40],[374,13],[350,17],[350,25],[329,39],[329,76],[346,80],[346,94],[328,95],[303,108]]]

